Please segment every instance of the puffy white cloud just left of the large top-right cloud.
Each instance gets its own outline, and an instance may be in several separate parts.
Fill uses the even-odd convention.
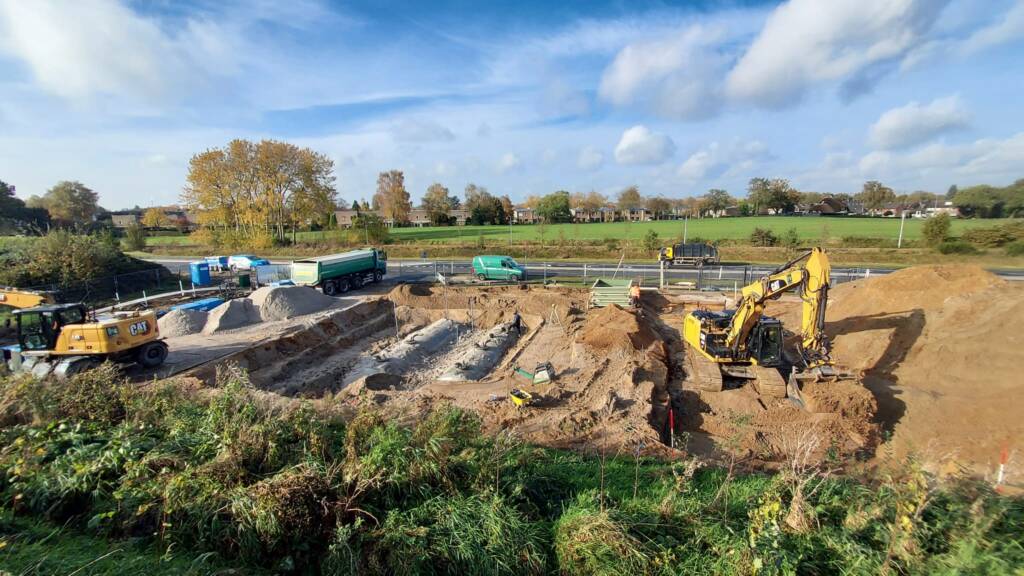
[[[670,118],[713,116],[728,64],[713,48],[722,38],[720,31],[692,26],[668,39],[630,44],[604,71],[598,93],[616,106],[642,104]]]

